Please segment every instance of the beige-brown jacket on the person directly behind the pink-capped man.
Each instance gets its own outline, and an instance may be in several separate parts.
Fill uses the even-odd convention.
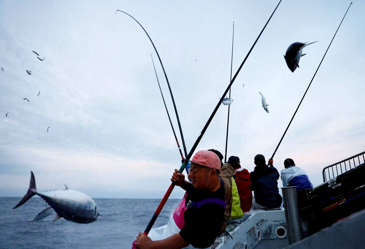
[[[230,164],[223,164],[219,170],[219,177],[224,182],[224,190],[226,191],[226,214],[224,214],[224,222],[220,232],[225,232],[228,224],[228,219],[231,216],[232,209],[232,176],[236,174],[236,171]]]

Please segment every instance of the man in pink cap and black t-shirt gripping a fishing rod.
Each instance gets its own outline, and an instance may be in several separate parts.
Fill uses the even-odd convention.
[[[198,151],[191,162],[192,182],[175,170],[171,181],[187,191],[184,206],[184,227],[179,233],[162,240],[152,241],[139,233],[135,246],[146,248],[210,247],[218,236],[224,220],[226,202],[224,185],[219,177],[219,157],[211,151]]]

